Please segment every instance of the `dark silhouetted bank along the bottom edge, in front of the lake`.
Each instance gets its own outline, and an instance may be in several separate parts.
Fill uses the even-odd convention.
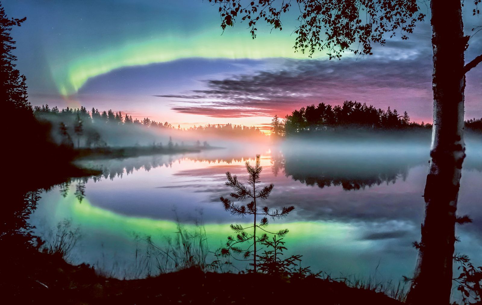
[[[119,280],[61,256],[38,252],[21,270],[2,276],[16,304],[402,304],[383,293],[328,279],[203,272],[189,268],[153,278]],[[5,271],[5,270],[4,270]]]

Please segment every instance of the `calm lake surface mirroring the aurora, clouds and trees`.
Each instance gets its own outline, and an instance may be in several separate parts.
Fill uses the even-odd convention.
[[[423,217],[427,148],[380,150],[353,145],[297,145],[262,154],[263,183],[275,185],[267,204],[294,205],[290,217],[270,226],[287,227],[287,254],[302,254],[312,270],[362,277],[410,275]],[[230,150],[184,156],[155,155],[84,161],[101,169],[97,177],[72,179],[42,194],[30,223],[48,239],[65,219],[79,228],[69,259],[86,262],[116,277],[133,277],[136,250],[146,246],[135,236],[151,235],[158,243],[173,237],[176,221],[187,228],[201,223],[211,250],[231,234],[228,224],[243,222],[219,202],[229,190],[224,173],[245,179],[243,162],[254,154]],[[459,195],[459,210],[474,223],[457,228],[456,251],[482,261],[482,158],[468,153]],[[246,220],[244,220],[246,221]],[[241,266],[242,267],[242,266]],[[139,276],[139,275],[136,275]],[[141,275],[142,276],[142,275]]]

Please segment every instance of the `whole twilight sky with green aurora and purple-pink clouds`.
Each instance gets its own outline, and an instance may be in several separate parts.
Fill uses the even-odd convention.
[[[429,14],[409,40],[388,40],[372,56],[345,53],[330,61],[323,53],[309,59],[294,52],[295,12],[281,19],[281,32],[260,25],[252,40],[243,23],[223,34],[207,0],[2,4],[9,17],[27,16],[12,35],[32,105],[111,108],[188,127],[259,125],[308,104],[356,100],[432,121]],[[482,22],[470,4],[466,35]],[[469,40],[466,62],[481,51],[482,31]],[[468,72],[466,119],[482,117],[481,83],[481,67]]]

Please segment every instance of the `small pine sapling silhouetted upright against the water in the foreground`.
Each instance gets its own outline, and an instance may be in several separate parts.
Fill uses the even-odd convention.
[[[268,225],[268,216],[272,219],[284,218],[291,211],[293,211],[295,207],[283,207],[281,211],[276,209],[273,212],[271,212],[268,207],[263,207],[261,211],[258,211],[257,204],[259,204],[259,200],[267,199],[274,186],[273,184],[270,184],[259,189],[261,187],[258,186],[261,183],[259,176],[263,169],[261,167],[259,155],[256,155],[254,166],[252,166],[249,161],[246,161],[245,166],[246,171],[249,174],[247,185],[241,183],[236,175],[231,175],[230,172],[226,172],[226,177],[228,178],[226,186],[234,189],[234,192],[230,194],[232,198],[238,199],[239,201],[252,199],[252,201],[245,206],[240,206],[227,198],[220,197],[220,199],[221,202],[223,202],[224,209],[230,212],[232,215],[237,215],[240,217],[253,215],[253,225],[247,227],[243,227],[242,225],[230,225],[231,229],[236,232],[236,237],[228,237],[226,247],[221,249],[221,254],[223,256],[232,256],[233,253],[242,254],[242,260],[246,261],[251,260],[248,258],[250,255],[253,255],[253,263],[251,265],[253,265],[253,271],[256,272],[256,244],[265,244],[266,241],[268,241],[268,235],[266,233],[274,234],[279,238],[282,238],[286,235],[286,233],[288,233],[288,229],[282,229],[276,233],[267,231],[265,228]],[[256,200],[258,200],[258,202],[256,202]],[[259,224],[256,223],[257,215],[260,215],[261,217]],[[256,228],[259,228],[263,231],[259,236],[256,236]],[[248,233],[246,231],[248,229],[253,229],[253,233]],[[241,248],[241,244],[245,243],[248,243],[247,248]],[[234,256],[233,258],[237,259]]]

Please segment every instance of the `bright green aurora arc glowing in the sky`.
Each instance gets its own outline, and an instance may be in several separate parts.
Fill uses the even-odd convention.
[[[133,41],[114,48],[82,54],[64,64],[51,65],[51,73],[60,94],[68,96],[91,78],[129,66],[144,66],[183,58],[308,58],[294,52],[293,41],[280,35],[267,35],[262,39],[251,39],[246,33],[221,36],[219,32],[203,33],[179,39],[166,36],[159,39]]]

